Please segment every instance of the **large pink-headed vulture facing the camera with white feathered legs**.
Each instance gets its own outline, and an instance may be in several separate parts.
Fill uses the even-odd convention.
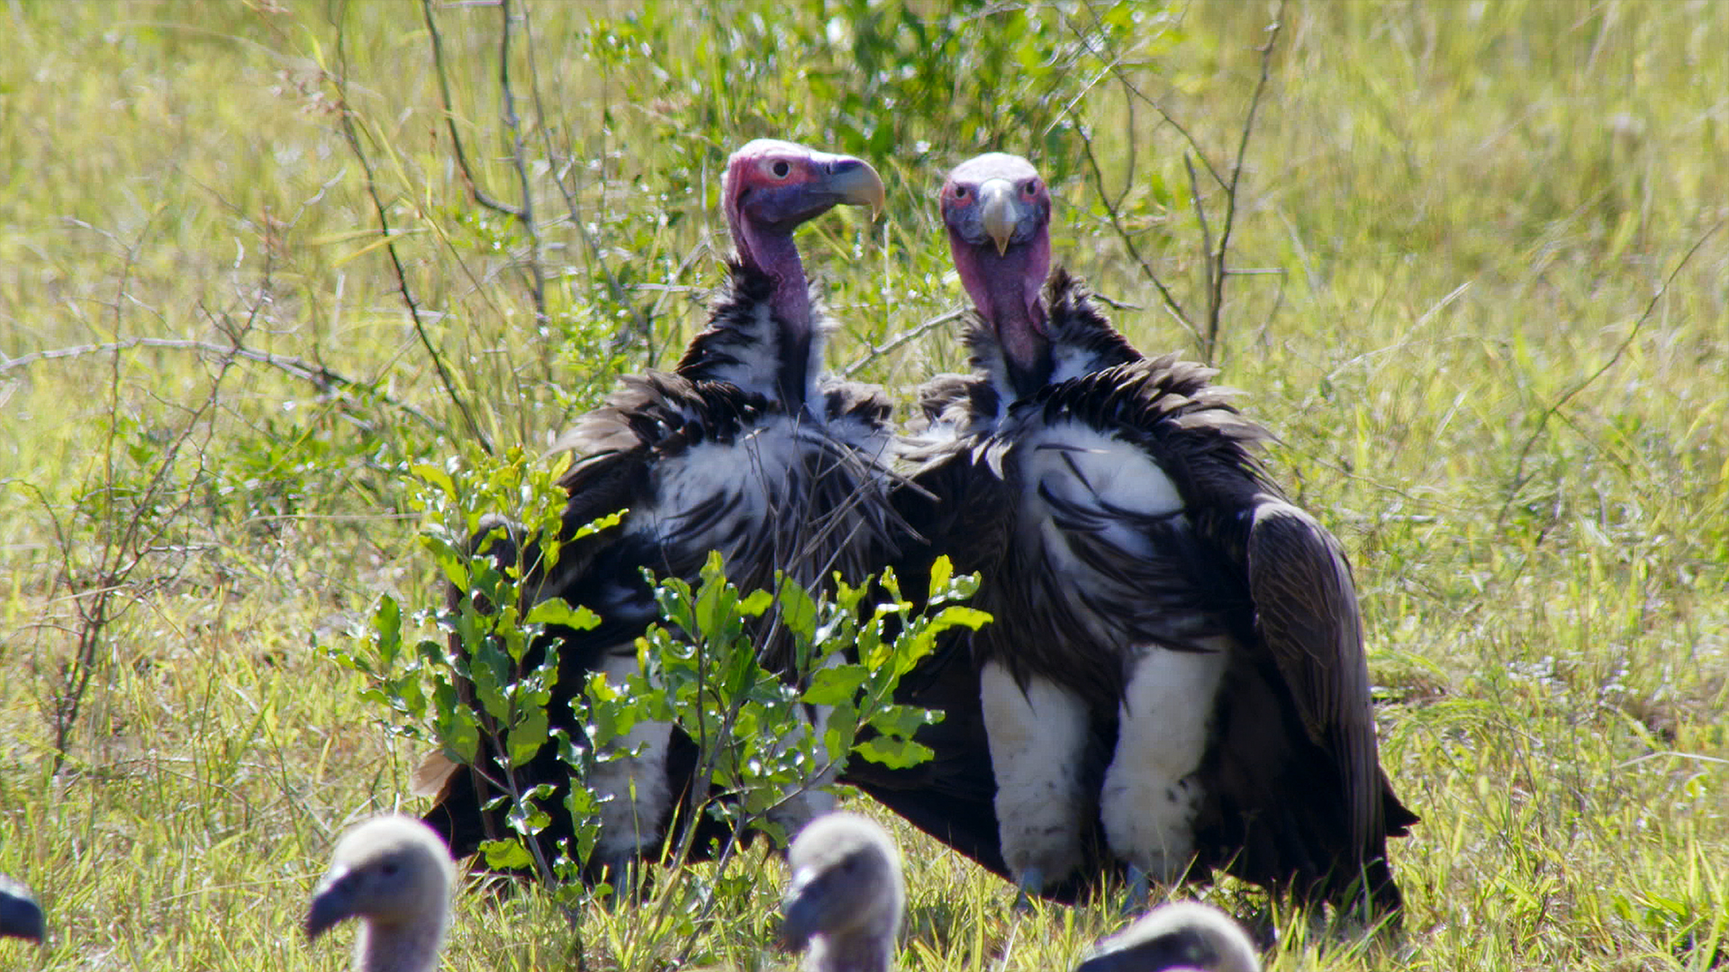
[[[973,374],[920,393],[915,483],[935,500],[909,521],[982,574],[994,617],[968,636],[975,668],[928,688],[979,690],[963,719],[982,723],[998,839],[972,834],[975,856],[1053,894],[1098,873],[1101,834],[1143,891],[1222,868],[1397,911],[1387,837],[1416,816],[1380,768],[1350,567],[1259,462],[1269,434],[1212,368],[1143,356],[1051,270],[1025,159],[963,163],[941,211]],[[967,763],[963,726],[944,732],[961,749],[939,758]]]

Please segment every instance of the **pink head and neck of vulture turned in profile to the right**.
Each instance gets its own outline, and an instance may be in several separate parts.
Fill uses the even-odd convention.
[[[721,206],[733,247],[740,263],[775,280],[775,311],[787,323],[809,327],[811,318],[809,287],[792,232],[840,204],[882,209],[882,178],[863,159],[757,138],[726,161]]]

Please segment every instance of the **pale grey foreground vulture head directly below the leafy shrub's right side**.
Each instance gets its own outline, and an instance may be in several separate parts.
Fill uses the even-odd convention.
[[[806,950],[804,972],[889,972],[906,908],[894,839],[863,816],[830,813],[799,832],[787,866],[782,936]]]

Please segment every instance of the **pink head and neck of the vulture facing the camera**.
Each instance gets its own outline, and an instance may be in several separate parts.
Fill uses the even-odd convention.
[[[989,152],[954,166],[941,206],[961,285],[996,334],[1015,389],[1027,394],[1051,374],[1041,297],[1051,270],[1051,194],[1032,163]]]

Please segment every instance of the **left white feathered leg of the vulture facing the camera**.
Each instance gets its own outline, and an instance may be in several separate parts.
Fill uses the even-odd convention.
[[[1062,884],[1081,861],[1086,702],[1046,678],[1025,688],[998,661],[980,671],[980,702],[996,768],[1003,861],[1024,894]]]

